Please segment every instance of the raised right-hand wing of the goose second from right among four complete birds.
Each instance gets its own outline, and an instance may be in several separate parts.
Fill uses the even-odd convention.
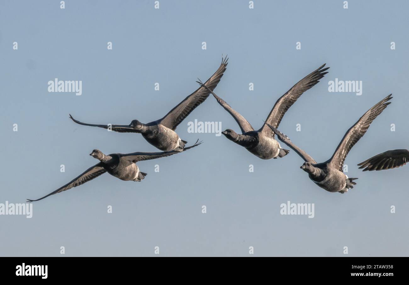
[[[300,98],[300,96],[304,92],[317,84],[319,82],[319,79],[323,78],[324,75],[328,73],[325,71],[328,70],[329,67],[323,68],[324,66],[325,64],[321,65],[317,70],[314,70],[313,72],[308,74],[290,90],[288,90],[287,93],[281,96],[274,104],[274,107],[272,108],[265,122],[269,123],[274,128],[278,128],[285,112],[287,112],[292,104],[294,104],[295,101],[297,101],[297,99]],[[272,135],[272,137],[274,137],[274,132],[272,132],[272,130],[266,124],[263,125],[261,131],[265,135]]]

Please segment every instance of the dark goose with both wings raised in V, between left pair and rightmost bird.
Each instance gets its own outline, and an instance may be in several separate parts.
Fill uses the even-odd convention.
[[[287,93],[281,96],[274,104],[273,109],[266,119],[266,123],[264,123],[259,130],[254,130],[254,128],[242,115],[231,108],[230,105],[227,104],[223,99],[214,94],[213,90],[208,89],[209,92],[211,92],[211,94],[213,94],[213,96],[219,102],[219,104],[222,105],[222,107],[225,108],[225,110],[229,112],[231,116],[233,116],[233,118],[240,126],[240,130],[242,132],[242,134],[240,135],[237,134],[234,130],[227,129],[223,131],[222,134],[225,135],[227,139],[240,146],[245,147],[250,153],[256,155],[261,159],[276,159],[277,157],[283,157],[287,155],[290,150],[281,148],[279,142],[274,139],[274,132],[272,132],[270,128],[267,127],[267,123],[270,123],[277,128],[288,108],[290,108],[292,104],[294,104],[295,101],[297,101],[297,99],[304,92],[317,84],[319,82],[319,79],[323,78],[324,75],[328,73],[325,71],[328,70],[329,67],[323,68],[324,66],[325,64],[321,65],[317,70],[308,74],[290,90],[288,90]],[[206,87],[206,85],[203,84],[200,79],[196,82],[199,83],[202,87]]]

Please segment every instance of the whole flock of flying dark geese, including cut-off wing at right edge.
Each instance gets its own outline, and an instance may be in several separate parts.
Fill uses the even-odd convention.
[[[210,94],[212,94],[218,103],[231,114],[240,127],[241,134],[238,134],[231,129],[223,131],[222,134],[225,135],[227,139],[243,146],[250,153],[261,159],[276,159],[277,157],[284,157],[290,152],[290,150],[281,148],[279,142],[274,139],[275,135],[277,135],[281,142],[286,144],[304,159],[305,163],[300,168],[308,173],[310,180],[319,187],[329,192],[339,193],[348,192],[348,189],[353,188],[353,185],[356,184],[353,180],[356,180],[357,178],[348,178],[348,176],[343,173],[342,168],[344,166],[344,160],[351,148],[361,137],[364,136],[373,120],[391,103],[389,100],[393,98],[391,97],[392,94],[376,103],[351,128],[349,128],[330,159],[326,162],[317,163],[304,150],[292,143],[286,135],[277,130],[277,128],[283,119],[285,112],[287,112],[304,92],[312,88],[325,76],[325,74],[328,73],[326,70],[328,70],[329,67],[324,68],[324,64],[295,84],[276,101],[270,114],[268,114],[267,119],[264,121],[263,126],[258,130],[254,130],[242,115],[236,112],[229,104],[213,92],[226,70],[227,61],[227,57],[224,59],[222,58],[222,63],[218,70],[216,70],[205,83],[202,83],[200,80],[196,81],[199,83],[200,88],[187,96],[162,119],[150,123],[142,123],[134,119],[129,125],[98,125],[77,121],[70,114],[72,121],[80,125],[105,128],[115,132],[140,133],[149,144],[162,150],[162,152],[137,152],[127,154],[112,153],[110,155],[105,155],[100,150],[94,149],[90,155],[95,159],[98,159],[99,163],[91,166],[81,175],[57,190],[37,200],[27,199],[27,202],[42,200],[50,195],[79,186],[106,172],[120,180],[140,182],[144,179],[146,173],[139,171],[139,167],[136,165],[137,162],[178,154],[202,143],[196,141],[195,144],[187,147],[187,141],[182,140],[175,132],[175,129],[198,105],[203,103]],[[358,165],[360,168],[364,168],[363,171],[379,171],[402,166],[406,164],[408,159],[409,150],[388,150],[384,153],[375,155]]]

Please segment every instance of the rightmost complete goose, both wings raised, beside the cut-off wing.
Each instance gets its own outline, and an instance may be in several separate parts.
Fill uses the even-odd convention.
[[[267,125],[283,143],[304,159],[305,163],[300,168],[308,173],[308,176],[315,184],[329,192],[345,193],[356,184],[353,180],[358,179],[348,178],[348,176],[342,173],[346,155],[348,155],[348,152],[357,141],[365,135],[372,121],[391,103],[388,102],[393,98],[391,96],[392,94],[374,105],[346,132],[335,153],[326,162],[315,162],[310,155],[293,144],[286,135],[270,124]]]

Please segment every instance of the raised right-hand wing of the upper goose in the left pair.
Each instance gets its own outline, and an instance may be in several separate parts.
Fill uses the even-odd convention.
[[[206,81],[205,85],[210,89],[214,90],[223,73],[227,67],[227,56],[223,59],[220,67],[216,72]],[[209,97],[210,92],[203,87],[198,88],[195,92],[187,96],[182,102],[180,102],[175,108],[173,108],[165,117],[158,120],[157,123],[162,124],[172,130],[186,118],[198,105],[203,103],[207,97]]]

